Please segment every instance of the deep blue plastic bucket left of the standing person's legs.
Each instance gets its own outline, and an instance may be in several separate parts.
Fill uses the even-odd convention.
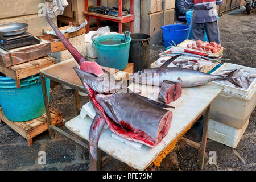
[[[163,30],[164,47],[170,46],[170,43],[179,44],[188,37],[189,27],[184,24],[168,24],[161,27]]]

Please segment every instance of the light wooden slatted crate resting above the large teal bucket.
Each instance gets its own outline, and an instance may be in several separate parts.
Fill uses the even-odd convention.
[[[20,80],[22,78],[38,74],[40,69],[46,68],[53,64],[55,64],[55,59],[47,56],[8,68],[5,68],[5,66],[0,64],[0,72],[13,78],[16,81],[16,88],[20,88]]]

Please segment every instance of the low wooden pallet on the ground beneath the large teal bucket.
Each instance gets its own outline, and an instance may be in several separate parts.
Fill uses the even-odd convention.
[[[52,125],[60,124],[63,126],[63,113],[50,106]],[[32,138],[48,130],[46,113],[38,118],[24,122],[13,122],[5,117],[3,110],[0,107],[0,123],[5,122],[22,137],[27,139],[28,146],[32,146]]]

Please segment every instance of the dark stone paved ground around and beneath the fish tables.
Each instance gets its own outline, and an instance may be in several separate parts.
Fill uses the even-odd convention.
[[[221,42],[225,47],[224,56],[232,59],[230,63],[255,68],[255,21],[255,14],[243,14],[242,10],[237,10],[233,14],[224,14],[220,18]],[[151,47],[151,61],[158,58],[159,49],[163,49],[163,46]],[[81,97],[81,105],[87,101],[86,97]],[[55,85],[51,88],[50,104],[63,111],[65,121],[76,116],[72,90]],[[254,110],[249,126],[237,148],[230,148],[208,139],[205,170],[256,169],[255,119]],[[32,146],[27,146],[26,139],[5,123],[0,125],[0,133],[0,170],[88,170],[88,151],[82,150],[81,147],[60,135],[56,135],[55,140],[51,141],[46,131],[33,139]],[[39,151],[46,152],[45,165],[38,164]],[[216,165],[208,163],[209,151],[216,151]],[[198,155],[199,152],[194,148],[178,143],[174,152],[168,154],[156,170],[196,170]],[[131,170],[129,166],[109,155],[103,154],[102,159],[104,170]]]

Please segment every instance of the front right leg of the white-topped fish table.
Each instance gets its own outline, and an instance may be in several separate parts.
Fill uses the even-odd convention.
[[[199,168],[203,170],[204,168],[204,156],[205,156],[205,148],[207,144],[207,131],[208,131],[208,122],[209,122],[209,113],[210,113],[210,105],[204,113],[204,125],[203,125],[203,135],[202,141],[200,144],[200,156],[199,156]]]

